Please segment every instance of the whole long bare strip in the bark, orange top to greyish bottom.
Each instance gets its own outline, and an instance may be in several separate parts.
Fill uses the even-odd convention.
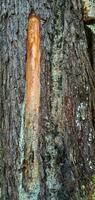
[[[25,159],[23,186],[31,191],[38,181],[38,120],[40,104],[40,21],[31,15],[28,22],[26,92],[25,92]]]

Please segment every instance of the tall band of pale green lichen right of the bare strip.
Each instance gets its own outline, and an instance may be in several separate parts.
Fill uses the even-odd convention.
[[[45,122],[45,180],[46,180],[46,198],[60,199],[62,191],[62,181],[60,181],[61,163],[58,163],[59,151],[64,157],[63,127],[62,122],[62,83],[63,83],[63,25],[62,25],[62,1],[54,4],[54,25],[53,39],[51,42],[50,55],[50,110],[47,112]],[[60,28],[61,27],[61,28]],[[59,114],[58,114],[59,113]],[[60,150],[59,150],[60,149]],[[60,156],[59,156],[60,157]],[[62,162],[60,160],[60,162]],[[63,197],[64,198],[64,197]]]

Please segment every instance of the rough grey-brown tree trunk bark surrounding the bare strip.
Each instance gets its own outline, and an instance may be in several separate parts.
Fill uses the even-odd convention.
[[[95,69],[87,50],[81,1],[1,0],[0,7],[0,130],[4,155],[1,199],[91,199],[95,170],[95,107],[91,107],[95,100]],[[41,21],[39,181],[26,191],[24,96],[31,11]],[[33,156],[31,159],[33,163]]]

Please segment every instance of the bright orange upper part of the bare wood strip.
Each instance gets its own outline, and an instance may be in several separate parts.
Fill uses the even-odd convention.
[[[26,63],[26,113],[39,110],[40,99],[40,22],[32,15],[28,23]]]

